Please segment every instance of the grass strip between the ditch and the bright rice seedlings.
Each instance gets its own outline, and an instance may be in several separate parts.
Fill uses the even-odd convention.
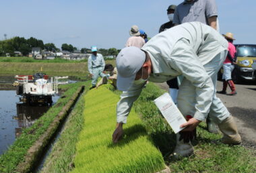
[[[90,81],[85,84],[85,90],[90,87]],[[65,89],[66,87],[63,87]],[[80,97],[69,115],[61,136],[53,146],[41,172],[69,172],[73,169],[75,143],[79,132],[84,127],[84,95]]]

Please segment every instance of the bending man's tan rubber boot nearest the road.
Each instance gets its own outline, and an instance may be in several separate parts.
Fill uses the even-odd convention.
[[[236,123],[233,117],[226,118],[222,123],[218,124],[220,131],[223,133],[222,143],[238,145],[241,143],[241,136],[238,133]]]

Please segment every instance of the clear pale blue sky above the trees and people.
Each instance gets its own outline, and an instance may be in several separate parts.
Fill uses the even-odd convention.
[[[20,36],[52,42],[61,48],[123,48],[131,25],[149,37],[168,21],[168,5],[182,0],[1,0],[0,40]],[[256,44],[255,0],[216,0],[220,32],[232,32],[235,44]]]

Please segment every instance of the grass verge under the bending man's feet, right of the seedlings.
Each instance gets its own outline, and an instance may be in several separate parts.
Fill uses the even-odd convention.
[[[141,115],[143,125],[162,152],[170,170],[173,172],[256,172],[255,151],[243,146],[211,143],[214,139],[220,139],[222,135],[208,133],[205,130],[205,123],[197,127],[197,140],[193,142],[195,156],[179,161],[171,160],[168,156],[174,150],[175,135],[152,103],[162,93],[164,91],[150,82],[146,89],[143,89],[134,107],[135,111]]]

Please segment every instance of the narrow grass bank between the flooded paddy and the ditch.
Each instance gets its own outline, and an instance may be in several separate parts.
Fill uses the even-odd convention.
[[[40,119],[31,127],[24,129],[22,135],[18,137],[13,145],[9,147],[0,157],[0,172],[14,172],[20,162],[24,160],[28,149],[33,145],[34,141],[40,137],[52,123],[53,119],[67,104],[73,93],[80,87],[82,83],[69,84],[69,89],[63,93],[61,99],[57,101],[49,111],[44,113]]]

